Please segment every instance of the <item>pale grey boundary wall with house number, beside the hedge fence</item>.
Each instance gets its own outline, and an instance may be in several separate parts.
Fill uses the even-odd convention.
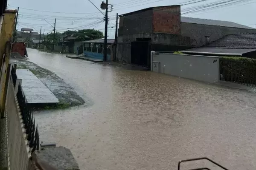
[[[219,80],[218,57],[153,52],[152,61],[152,70],[160,73],[210,83]]]

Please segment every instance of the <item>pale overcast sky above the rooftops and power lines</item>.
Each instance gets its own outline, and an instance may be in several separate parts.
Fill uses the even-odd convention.
[[[97,7],[100,7],[102,0],[91,0]],[[108,0],[114,5],[109,13],[110,22],[108,28],[109,38],[115,34],[115,15],[137,11],[152,6],[169,6],[192,0]],[[199,0],[194,0],[199,1]],[[203,2],[181,6],[181,13],[188,8],[201,6],[209,3],[218,3],[225,0],[201,0]],[[235,0],[236,1],[236,0]],[[32,28],[42,32],[52,31],[54,19],[56,18],[56,30],[66,31],[67,28],[85,29],[94,28],[104,32],[103,14],[94,7],[88,0],[8,0],[9,9],[20,7],[18,27]],[[33,9],[33,10],[31,10]],[[256,0],[240,0],[238,3],[227,6],[219,6],[204,11],[190,12],[183,14],[185,17],[197,17],[212,20],[226,20],[256,28]],[[49,12],[50,11],[50,12]],[[191,11],[191,10],[190,10]],[[104,10],[102,10],[104,12]],[[52,26],[50,26],[45,20]],[[113,28],[111,28],[113,27]],[[36,31],[35,30],[35,31]]]

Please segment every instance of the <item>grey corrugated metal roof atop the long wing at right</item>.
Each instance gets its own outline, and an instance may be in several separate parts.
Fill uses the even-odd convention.
[[[201,19],[201,18],[180,17],[180,21],[182,23],[195,23],[195,24],[203,24],[203,25],[211,25],[211,26],[224,26],[224,27],[234,27],[234,28],[255,29],[252,27],[243,26],[238,23],[233,23],[230,21],[221,21],[221,20],[208,20],[208,19]]]

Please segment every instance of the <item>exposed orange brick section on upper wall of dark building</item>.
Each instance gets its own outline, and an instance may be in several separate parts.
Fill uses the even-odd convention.
[[[180,6],[153,10],[153,32],[180,34]]]

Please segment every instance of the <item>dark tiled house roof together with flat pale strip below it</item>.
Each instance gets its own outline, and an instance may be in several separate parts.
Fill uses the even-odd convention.
[[[231,34],[208,45],[181,51],[185,54],[256,58],[256,33]]]

